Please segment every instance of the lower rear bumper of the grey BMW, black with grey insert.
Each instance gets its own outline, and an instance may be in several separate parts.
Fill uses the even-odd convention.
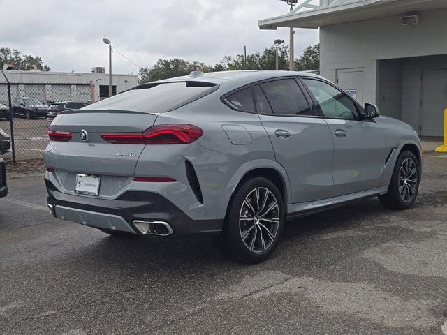
[[[134,221],[164,222],[175,237],[216,235],[222,229],[223,221],[193,220],[158,193],[128,191],[115,200],[103,200],[61,193],[47,179],[45,184],[54,217],[90,227],[141,234]]]

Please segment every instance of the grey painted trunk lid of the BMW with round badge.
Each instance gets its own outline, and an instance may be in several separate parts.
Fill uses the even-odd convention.
[[[154,125],[155,119],[154,114],[138,112],[62,112],[50,129],[68,131],[72,137],[68,142],[50,142],[44,154],[45,163],[54,170],[65,172],[133,177],[145,145],[112,144],[103,140],[101,134],[142,133]],[[81,139],[82,131],[87,133],[85,140]],[[73,175],[64,178],[73,181]],[[101,188],[102,184],[101,181]]]

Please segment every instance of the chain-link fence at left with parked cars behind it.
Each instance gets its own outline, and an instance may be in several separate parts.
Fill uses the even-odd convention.
[[[41,158],[50,142],[47,128],[61,110],[90,103],[90,84],[0,84],[0,128],[10,135],[6,160]],[[0,141],[4,135],[0,133]]]

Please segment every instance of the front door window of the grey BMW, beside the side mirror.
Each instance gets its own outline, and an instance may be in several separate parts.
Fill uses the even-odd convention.
[[[356,119],[358,116],[356,104],[342,91],[321,80],[304,78],[303,81],[314,94],[318,101],[317,108],[325,117]]]

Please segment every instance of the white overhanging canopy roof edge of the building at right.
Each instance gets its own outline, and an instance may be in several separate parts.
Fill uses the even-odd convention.
[[[321,1],[323,3],[323,1]],[[300,11],[302,8],[309,10]],[[447,8],[446,0],[335,0],[325,6],[301,0],[300,6],[286,15],[259,20],[260,29],[278,27],[318,28],[378,17],[417,13],[425,10]]]

